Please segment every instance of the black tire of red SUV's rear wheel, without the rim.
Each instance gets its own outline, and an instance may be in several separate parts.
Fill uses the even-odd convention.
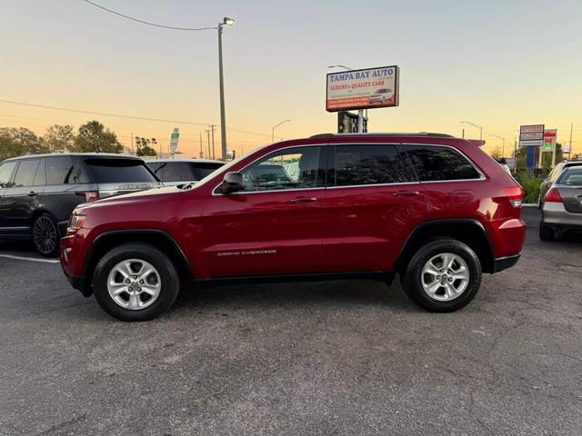
[[[459,256],[465,263],[469,277],[465,290],[449,301],[438,301],[425,292],[422,285],[423,268],[433,257],[440,253],[453,253]],[[454,312],[465,307],[479,290],[481,285],[481,263],[477,254],[466,244],[456,239],[434,239],[418,249],[410,262],[406,265],[406,271],[401,273],[401,283],[406,295],[428,312]]]

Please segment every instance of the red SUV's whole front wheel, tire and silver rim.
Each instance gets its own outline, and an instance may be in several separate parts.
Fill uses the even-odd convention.
[[[93,277],[95,298],[121,321],[146,321],[176,301],[180,279],[165,253],[146,243],[127,243],[106,253]]]

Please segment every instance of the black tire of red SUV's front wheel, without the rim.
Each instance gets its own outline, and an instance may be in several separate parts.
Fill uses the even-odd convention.
[[[107,288],[109,273],[115,265],[129,259],[150,263],[159,274],[159,294],[156,300],[144,309],[130,310],[122,307],[115,302]],[[146,243],[125,243],[105,253],[97,263],[93,275],[93,291],[99,305],[114,318],[120,321],[148,321],[172,307],[180,292],[180,277],[165,253]]]

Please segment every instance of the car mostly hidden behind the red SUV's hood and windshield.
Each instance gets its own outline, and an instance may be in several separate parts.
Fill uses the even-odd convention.
[[[156,159],[146,164],[166,186],[172,186],[202,180],[225,163],[210,159]]]

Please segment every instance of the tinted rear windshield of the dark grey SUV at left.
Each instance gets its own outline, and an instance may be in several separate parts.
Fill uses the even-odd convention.
[[[95,183],[157,182],[146,164],[134,159],[89,159],[86,165]]]

